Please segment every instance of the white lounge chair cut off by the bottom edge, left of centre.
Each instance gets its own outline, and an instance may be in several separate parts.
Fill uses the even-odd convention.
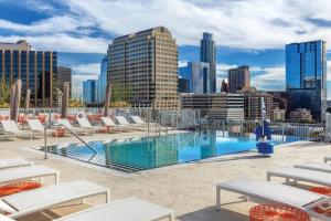
[[[115,221],[157,221],[168,218],[169,221],[174,221],[174,213],[171,209],[137,198],[128,198],[83,210],[56,221],[105,221],[105,218]]]

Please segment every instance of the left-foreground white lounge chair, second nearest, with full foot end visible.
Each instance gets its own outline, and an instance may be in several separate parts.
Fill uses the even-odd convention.
[[[61,203],[98,194],[105,194],[106,202],[108,202],[108,189],[85,180],[76,180],[7,196],[0,198],[0,203],[2,210],[10,213],[8,217],[15,219]]]

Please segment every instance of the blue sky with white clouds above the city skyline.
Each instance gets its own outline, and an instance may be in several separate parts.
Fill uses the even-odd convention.
[[[285,44],[331,42],[330,11],[324,0],[0,0],[0,41],[26,39],[36,50],[57,51],[58,64],[73,69],[75,94],[82,81],[97,77],[115,36],[164,25],[184,65],[199,60],[207,31],[217,43],[218,83],[229,67],[246,64],[253,86],[279,91],[285,88]]]

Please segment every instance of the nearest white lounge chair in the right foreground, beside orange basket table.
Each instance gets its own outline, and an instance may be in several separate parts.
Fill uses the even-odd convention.
[[[317,206],[330,202],[331,198],[299,188],[249,178],[229,180],[216,186],[216,204],[218,207],[221,206],[221,190],[244,194],[265,202],[295,207],[320,220],[331,220],[331,218],[312,210]]]

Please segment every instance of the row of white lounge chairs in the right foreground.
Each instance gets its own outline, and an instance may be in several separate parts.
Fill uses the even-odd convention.
[[[324,157],[324,161],[331,160],[331,156]],[[256,199],[280,203],[297,208],[308,214],[324,221],[331,221],[331,217],[316,212],[316,207],[331,204],[331,198],[318,194],[297,187],[270,182],[271,177],[281,177],[293,181],[310,182],[331,187],[331,166],[320,162],[295,165],[267,171],[267,181],[239,178],[216,185],[216,204],[221,207],[221,190],[226,190],[246,196],[246,199]]]

